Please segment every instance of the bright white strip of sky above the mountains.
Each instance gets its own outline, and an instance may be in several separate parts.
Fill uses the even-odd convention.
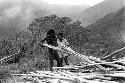
[[[93,6],[104,0],[43,0],[48,4],[65,4],[65,5],[88,5]]]

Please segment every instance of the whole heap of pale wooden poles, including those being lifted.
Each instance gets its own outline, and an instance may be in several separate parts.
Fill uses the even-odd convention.
[[[43,44],[43,46],[52,48],[54,50],[58,50],[64,53],[68,53],[71,55],[75,55],[78,58],[83,60],[83,63],[87,63],[87,65],[82,65],[82,66],[73,66],[73,67],[55,67],[55,69],[60,69],[57,71],[36,71],[36,72],[30,72],[29,74],[11,74],[12,76],[22,76],[24,79],[29,80],[29,77],[33,79],[33,81],[36,81],[37,83],[65,83],[71,82],[71,83],[118,83],[115,82],[114,79],[117,79],[117,81],[124,81],[125,79],[125,71],[111,71],[111,72],[106,72],[106,73],[100,73],[100,72],[71,72],[71,71],[66,71],[65,69],[80,69],[84,68],[87,66],[94,66],[97,67],[98,69],[102,69],[103,67],[101,66],[102,64],[111,66],[111,68],[120,68],[125,70],[125,67],[122,65],[118,65],[117,63],[123,63],[125,65],[125,58],[113,62],[105,62],[104,60],[100,60],[98,58],[94,57],[87,57],[85,55],[79,54],[75,51],[73,51],[69,47],[62,47],[58,48],[55,46],[51,46],[48,44]],[[63,70],[64,68],[64,70]],[[105,70],[102,69],[102,70]],[[52,82],[54,80],[54,82]],[[101,82],[101,81],[102,82]],[[114,80],[114,81],[113,81]],[[121,83],[121,82],[120,82]]]

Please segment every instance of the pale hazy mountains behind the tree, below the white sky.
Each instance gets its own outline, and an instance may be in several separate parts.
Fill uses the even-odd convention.
[[[123,0],[105,0],[92,7],[86,5],[50,5],[42,0],[2,0],[0,2],[0,36],[25,30],[33,18],[51,14],[80,20],[85,28],[107,14],[118,11],[123,6]]]

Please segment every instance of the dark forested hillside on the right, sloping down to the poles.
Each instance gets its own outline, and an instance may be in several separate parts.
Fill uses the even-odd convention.
[[[125,7],[107,14],[85,28],[77,28],[69,37],[70,43],[80,48],[80,52],[100,57],[125,46]],[[123,57],[124,52],[117,54]]]

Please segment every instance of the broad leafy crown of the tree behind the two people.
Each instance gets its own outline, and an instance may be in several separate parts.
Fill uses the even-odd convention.
[[[58,17],[57,15],[50,15],[40,18],[35,18],[29,25],[29,30],[33,36],[41,36],[44,31],[54,28],[57,32],[64,31],[65,27],[69,25],[71,18]]]

